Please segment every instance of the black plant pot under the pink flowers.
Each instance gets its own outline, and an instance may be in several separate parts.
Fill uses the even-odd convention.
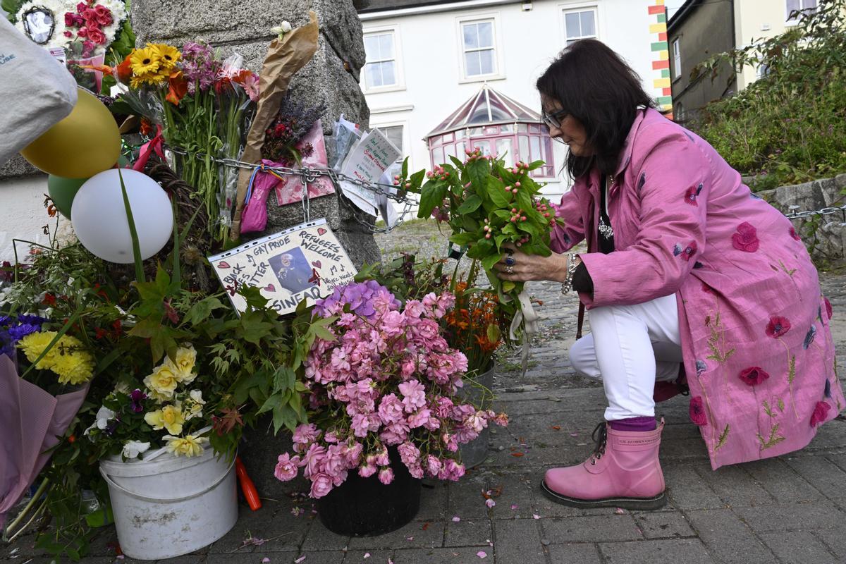
[[[420,510],[420,479],[409,474],[396,447],[388,447],[393,482],[379,481],[378,474],[362,478],[349,471],[342,485],[317,500],[317,516],[332,533],[371,537],[390,533],[415,518]]]

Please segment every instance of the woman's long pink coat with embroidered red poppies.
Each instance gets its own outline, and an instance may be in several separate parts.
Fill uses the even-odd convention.
[[[564,194],[561,253],[590,234],[599,178]],[[846,405],[834,365],[831,305],[793,225],[740,182],[705,140],[639,112],[608,198],[615,252],[582,254],[588,309],[676,293],[690,419],[714,469],[806,446]]]

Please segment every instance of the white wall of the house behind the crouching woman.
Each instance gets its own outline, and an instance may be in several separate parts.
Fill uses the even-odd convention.
[[[451,9],[454,4],[440,5],[429,8],[439,11],[423,14],[384,12],[376,17],[362,14],[365,34],[393,30],[398,57],[397,88],[368,91],[362,79],[362,89],[371,108],[371,127],[403,125],[409,170],[419,170],[431,166],[423,140],[426,134],[478,92],[483,82],[540,112],[535,82],[564,46],[563,10],[571,8],[596,8],[599,39],[625,57],[640,74],[647,92],[661,96],[660,89],[653,87],[656,75],[652,69],[651,42],[656,41],[656,36],[651,33],[650,25],[656,18],[647,10],[655,3],[655,0],[541,0],[489,3],[457,10]],[[531,4],[532,8],[524,11],[524,4]],[[462,76],[459,22],[476,18],[494,19],[501,68],[496,77],[469,81]],[[555,166],[560,170],[566,148],[553,145]],[[550,196],[560,195],[569,187],[569,181],[561,175],[547,182],[546,192]]]

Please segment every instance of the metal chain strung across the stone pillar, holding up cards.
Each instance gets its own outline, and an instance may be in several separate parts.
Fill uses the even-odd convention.
[[[176,155],[189,156],[190,158],[191,153],[189,151],[185,151],[181,147],[168,145],[167,148],[168,151],[171,151]],[[231,158],[217,158],[215,156],[209,156],[206,153],[193,153],[193,155],[196,159],[204,162],[206,161],[206,158],[211,158],[211,161],[217,162],[217,164],[223,165],[224,167],[241,168],[250,171],[255,170],[255,168],[258,167],[258,165],[251,164],[250,162],[243,162]],[[399,190],[394,184],[367,182],[360,180],[359,178],[347,176],[346,174],[337,172],[333,168],[329,167],[264,167],[263,170],[276,172],[277,174],[299,177],[300,182],[303,183],[302,205],[303,217],[306,222],[310,221],[310,198],[308,198],[308,185],[316,182],[321,177],[328,177],[332,181],[332,185],[335,187],[335,193],[338,194],[338,201],[341,205],[348,209],[350,215],[353,216],[356,222],[360,223],[362,227],[365,227],[365,229],[371,233],[390,233],[393,229],[402,225],[406,216],[413,214],[413,208],[417,205],[416,200],[409,199],[408,193],[404,190]],[[394,222],[393,225],[376,227],[375,222],[368,222],[365,219],[362,219],[359,214],[366,212],[359,211],[342,197],[343,189],[341,189],[340,184],[342,181],[349,182],[362,189],[370,190],[375,194],[384,195],[388,200],[393,200],[394,202],[403,204],[403,211],[398,215],[397,221]],[[388,202],[387,205],[393,204]]]

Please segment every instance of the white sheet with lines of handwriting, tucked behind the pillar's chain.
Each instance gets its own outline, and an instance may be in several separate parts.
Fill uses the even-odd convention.
[[[387,168],[397,161],[399,155],[397,147],[381,131],[373,129],[349,151],[341,172],[362,182],[377,183]],[[376,216],[379,207],[376,192],[346,181],[341,182],[341,189],[361,211]]]

